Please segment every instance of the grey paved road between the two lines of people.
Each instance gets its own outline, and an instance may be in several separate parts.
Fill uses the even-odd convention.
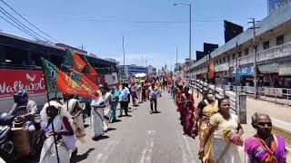
[[[174,102],[164,92],[157,114],[149,113],[149,101],[131,107],[132,117],[121,117],[99,139],[86,128],[85,144],[78,143],[75,162],[98,163],[195,163],[198,139],[183,136]]]

